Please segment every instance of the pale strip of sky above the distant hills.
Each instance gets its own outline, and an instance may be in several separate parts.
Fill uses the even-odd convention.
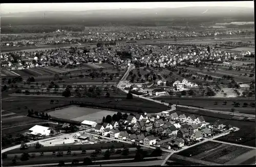
[[[24,3],[1,4],[1,13],[37,12],[37,11],[85,11],[100,9],[127,8],[180,8],[193,6],[230,6],[253,8],[253,1],[229,2],[148,2],[148,3]]]

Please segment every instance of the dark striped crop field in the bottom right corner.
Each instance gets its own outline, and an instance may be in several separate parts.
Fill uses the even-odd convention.
[[[238,147],[233,145],[221,144],[214,141],[207,141],[201,145],[181,151],[180,153],[178,153],[178,155],[220,164],[229,164],[229,161],[232,161],[252,150],[253,149],[245,147]],[[248,157],[243,157],[242,162],[247,159]]]

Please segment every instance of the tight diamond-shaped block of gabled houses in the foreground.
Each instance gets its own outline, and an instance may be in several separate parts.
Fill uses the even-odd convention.
[[[186,141],[200,141],[210,137],[212,131],[222,131],[226,127],[220,121],[209,124],[205,122],[203,116],[178,115],[176,112],[130,114],[126,119],[113,121],[111,124],[85,122],[88,128],[92,128],[102,136],[167,149],[171,146],[182,148]],[[226,128],[231,130],[232,126],[229,125]]]

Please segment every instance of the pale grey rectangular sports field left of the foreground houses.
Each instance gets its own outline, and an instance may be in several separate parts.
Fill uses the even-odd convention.
[[[113,116],[113,114],[115,113],[117,112],[102,110],[102,109],[72,106],[65,109],[51,111],[48,114],[50,114],[53,117],[74,120],[79,122],[82,122],[84,120],[89,120],[89,121],[101,123],[103,116],[104,117],[106,115]]]

